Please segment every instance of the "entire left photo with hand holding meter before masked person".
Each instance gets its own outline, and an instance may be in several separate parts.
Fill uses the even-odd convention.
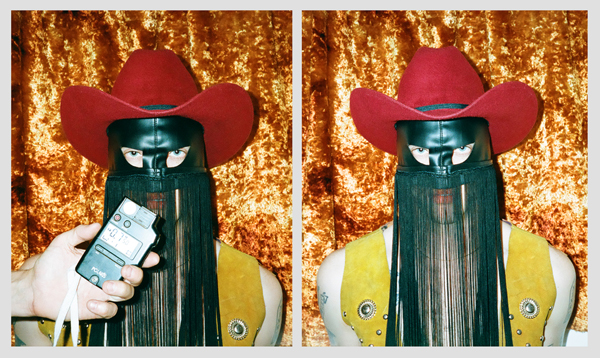
[[[292,12],[11,22],[12,345],[291,347]]]

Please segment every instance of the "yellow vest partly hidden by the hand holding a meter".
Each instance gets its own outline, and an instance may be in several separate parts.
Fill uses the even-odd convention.
[[[224,346],[252,346],[265,319],[265,301],[258,261],[224,243],[221,243],[217,267],[221,335]],[[53,342],[54,321],[40,320],[40,331]],[[90,323],[80,325],[81,333],[89,342]],[[247,333],[244,335],[244,332]],[[58,345],[72,346],[69,325],[63,326]]]

